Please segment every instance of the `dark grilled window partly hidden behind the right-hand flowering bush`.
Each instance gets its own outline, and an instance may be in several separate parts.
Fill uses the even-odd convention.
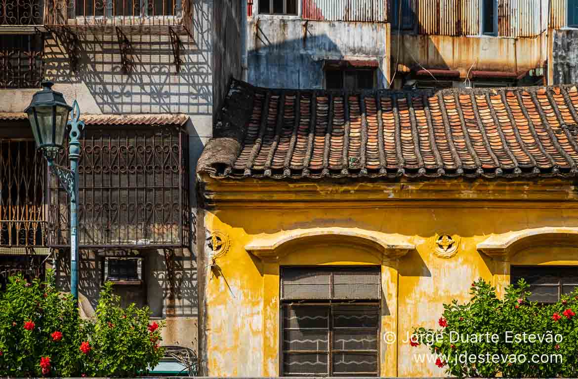
[[[510,283],[520,278],[530,285],[532,295],[528,300],[555,303],[561,295],[568,295],[578,287],[578,267],[561,266],[512,266]]]

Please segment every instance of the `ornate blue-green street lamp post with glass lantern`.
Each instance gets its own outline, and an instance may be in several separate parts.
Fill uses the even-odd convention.
[[[71,197],[71,292],[78,299],[78,269],[76,261],[78,257],[78,161],[80,158],[80,133],[84,129],[84,122],[79,121],[80,109],[76,100],[72,107],[66,104],[64,96],[60,92],[51,90],[53,83],[42,83],[42,91],[32,96],[32,102],[24,110],[28,114],[28,120],[32,126],[32,133],[36,140],[36,146],[48,161],[50,169],[56,173],[61,187]],[[71,121],[68,114],[72,110]],[[70,127],[70,143],[68,157],[71,168],[68,169],[55,163],[58,151],[64,148],[64,137],[67,126]]]

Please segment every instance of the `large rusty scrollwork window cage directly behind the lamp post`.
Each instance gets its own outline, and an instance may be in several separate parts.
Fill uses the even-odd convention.
[[[188,247],[188,138],[179,127],[88,129],[79,161],[83,247]],[[60,164],[68,166],[65,152]],[[50,246],[68,241],[68,196],[50,180]]]

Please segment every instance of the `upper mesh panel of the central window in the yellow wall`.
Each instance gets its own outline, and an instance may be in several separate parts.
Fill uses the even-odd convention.
[[[283,267],[281,299],[381,298],[380,267]]]

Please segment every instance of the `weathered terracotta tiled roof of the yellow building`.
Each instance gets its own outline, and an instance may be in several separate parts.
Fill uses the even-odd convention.
[[[577,166],[576,86],[341,92],[234,81],[198,171],[277,179],[573,177]]]

